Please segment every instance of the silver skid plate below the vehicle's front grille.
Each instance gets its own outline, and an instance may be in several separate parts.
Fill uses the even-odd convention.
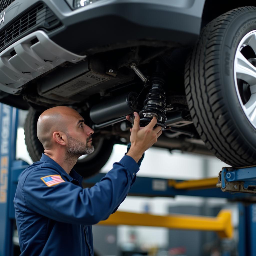
[[[37,42],[32,43],[37,38]],[[15,51],[14,56],[10,56]],[[86,58],[55,44],[44,31],[35,31],[0,52],[0,90],[15,94],[24,84],[62,63]]]

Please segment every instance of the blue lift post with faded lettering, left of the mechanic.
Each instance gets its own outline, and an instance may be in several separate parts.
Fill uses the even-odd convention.
[[[18,110],[0,103],[0,256],[13,255],[13,198],[18,176],[28,166],[16,160]]]

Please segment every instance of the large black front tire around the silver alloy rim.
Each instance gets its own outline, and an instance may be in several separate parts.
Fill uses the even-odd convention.
[[[238,91],[235,62],[240,42],[256,30],[255,17],[255,7],[240,7],[214,19],[202,29],[185,67],[186,97],[194,125],[207,148],[234,167],[256,164],[256,120],[249,120],[243,110],[245,92]],[[254,55],[255,49],[249,57]]]

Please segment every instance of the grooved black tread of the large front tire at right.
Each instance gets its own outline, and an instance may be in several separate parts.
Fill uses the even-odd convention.
[[[219,159],[237,167],[255,164],[255,152],[243,146],[242,137],[230,122],[230,115],[225,109],[226,103],[221,96],[218,62],[224,31],[245,10],[256,8],[239,7],[204,27],[185,66],[187,102],[199,135]]]

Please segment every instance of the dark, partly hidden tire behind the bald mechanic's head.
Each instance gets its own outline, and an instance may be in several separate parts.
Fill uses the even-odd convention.
[[[25,144],[27,151],[34,162],[40,160],[42,153],[44,153],[44,147],[37,138],[37,120],[41,112],[30,108],[24,125]],[[113,142],[103,137],[94,137],[95,150],[92,154],[78,159],[74,169],[84,178],[88,178],[94,174],[97,174],[101,168],[108,161],[112,149]]]

